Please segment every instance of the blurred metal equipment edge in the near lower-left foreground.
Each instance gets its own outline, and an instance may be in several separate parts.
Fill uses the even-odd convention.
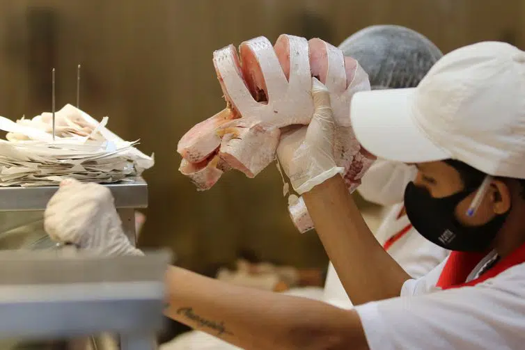
[[[1,251],[0,338],[120,335],[120,349],[156,349],[171,254],[100,257],[70,250]],[[85,349],[85,347],[84,347]]]

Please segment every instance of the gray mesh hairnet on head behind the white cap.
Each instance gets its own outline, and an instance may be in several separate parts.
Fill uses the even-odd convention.
[[[443,56],[428,38],[403,26],[369,26],[339,48],[368,73],[373,89],[414,88]]]

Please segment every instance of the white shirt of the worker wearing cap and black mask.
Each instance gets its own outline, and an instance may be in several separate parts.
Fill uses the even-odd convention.
[[[398,298],[356,306],[370,350],[525,349],[525,263],[473,287],[441,290],[444,264],[407,280]]]

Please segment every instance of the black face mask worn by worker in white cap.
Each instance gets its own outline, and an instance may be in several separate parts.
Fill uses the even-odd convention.
[[[442,248],[485,252],[508,216],[501,214],[480,226],[465,226],[455,218],[455,207],[473,190],[433,198],[425,187],[410,182],[405,189],[405,209],[410,223],[426,239]]]

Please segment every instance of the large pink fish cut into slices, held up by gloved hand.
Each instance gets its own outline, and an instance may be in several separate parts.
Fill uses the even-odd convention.
[[[177,149],[181,173],[201,191],[210,189],[230,168],[255,177],[276,159],[281,128],[306,127],[310,122],[311,78],[317,77],[330,92],[337,165],[345,168],[345,182],[354,191],[374,161],[350,125],[352,95],[370,90],[359,63],[323,40],[287,34],[275,45],[265,37],[247,40],[239,52],[229,45],[213,54],[226,109],[182,136]],[[301,198],[292,200],[290,214],[299,231],[313,228]]]

